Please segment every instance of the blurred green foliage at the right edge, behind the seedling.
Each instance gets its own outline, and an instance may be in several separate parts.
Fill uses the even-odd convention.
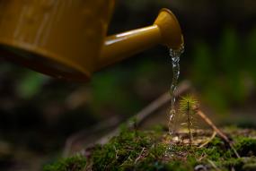
[[[217,46],[204,41],[192,50],[191,79],[211,105],[225,111],[231,105],[243,104],[253,93],[256,64],[256,29],[246,38],[236,30],[224,30]]]

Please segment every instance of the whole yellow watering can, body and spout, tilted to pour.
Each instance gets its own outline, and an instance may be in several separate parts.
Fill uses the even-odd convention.
[[[114,0],[0,0],[0,56],[40,73],[86,81],[102,67],[148,47],[183,44],[162,9],[154,24],[106,37]]]

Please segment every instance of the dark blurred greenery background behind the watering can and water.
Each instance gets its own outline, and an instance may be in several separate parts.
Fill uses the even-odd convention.
[[[109,34],[152,24],[162,7],[176,14],[185,38],[180,81],[191,82],[218,124],[255,128],[255,0],[119,0]],[[97,140],[103,124],[107,131],[135,115],[172,82],[162,46],[105,68],[87,83],[0,60],[0,170],[40,170],[63,155],[74,134]]]

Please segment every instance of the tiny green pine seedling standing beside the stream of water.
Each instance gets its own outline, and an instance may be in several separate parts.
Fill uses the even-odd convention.
[[[180,108],[179,111],[181,115],[184,116],[185,122],[181,125],[185,126],[189,133],[189,144],[192,144],[192,132],[196,128],[196,108],[198,108],[198,101],[197,99],[193,98],[190,95],[182,97],[180,100]]]

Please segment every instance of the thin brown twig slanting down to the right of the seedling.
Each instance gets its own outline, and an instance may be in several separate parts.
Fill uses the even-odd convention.
[[[216,125],[213,124],[213,122],[207,117],[207,115],[205,115],[201,110],[198,109],[198,110],[197,110],[197,114],[198,114],[208,125],[210,125],[210,126],[212,127],[212,129],[213,129],[214,131],[216,131],[216,133],[217,133],[224,141],[226,141],[226,142],[229,144],[230,148],[231,148],[232,150],[234,150],[235,156],[236,156],[237,158],[241,158],[240,155],[237,153],[237,151],[234,149],[233,142],[230,141],[230,140],[227,138],[227,136],[225,136],[225,133],[222,133],[222,131],[220,131],[220,130],[216,127]]]

